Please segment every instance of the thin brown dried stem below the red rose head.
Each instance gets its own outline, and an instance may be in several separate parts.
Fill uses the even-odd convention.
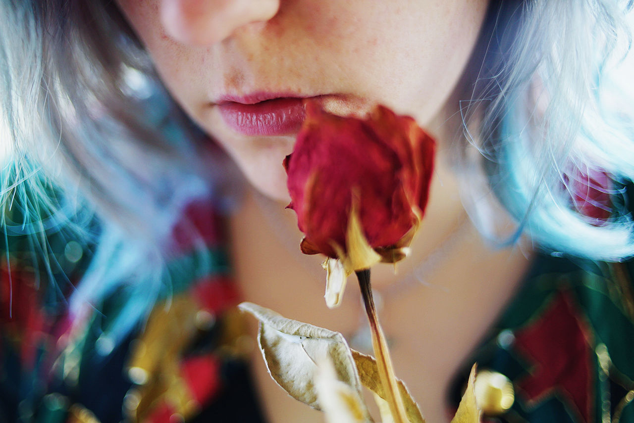
[[[385,391],[385,400],[390,406],[394,423],[408,423],[403,398],[399,393],[396,376],[394,375],[394,366],[390,357],[390,350],[387,348],[387,341],[378,322],[377,312],[372,299],[372,286],[370,286],[370,269],[359,270],[356,272],[361,288],[361,296],[365,305],[365,312],[368,315],[370,323],[370,332],[372,332],[372,348],[377,358],[378,375],[381,379]]]

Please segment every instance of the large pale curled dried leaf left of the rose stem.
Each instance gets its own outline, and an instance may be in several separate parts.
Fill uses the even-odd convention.
[[[339,332],[290,320],[253,303],[240,309],[260,321],[258,343],[271,377],[288,395],[320,410],[313,377],[316,363],[330,358],[337,379],[361,395],[361,382],[346,339]]]

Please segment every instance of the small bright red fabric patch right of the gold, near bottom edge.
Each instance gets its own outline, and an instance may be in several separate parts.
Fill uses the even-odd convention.
[[[181,362],[181,376],[193,398],[204,404],[220,389],[220,362],[209,355],[187,358]]]

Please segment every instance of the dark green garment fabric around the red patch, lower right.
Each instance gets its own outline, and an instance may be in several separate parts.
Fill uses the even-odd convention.
[[[619,276],[618,267],[624,272]],[[465,369],[477,362],[479,369],[491,369],[507,376],[515,388],[515,402],[506,413],[490,421],[531,422],[531,423],[593,423],[605,422],[615,413],[619,403],[628,391],[634,390],[634,286],[630,275],[632,263],[590,263],[569,262],[564,258],[540,255],[524,285],[502,313],[488,336],[465,363]],[[563,296],[563,297],[562,297]],[[548,339],[541,332],[530,332],[529,341],[535,348],[552,351],[553,362],[571,369],[588,370],[590,389],[590,420],[579,412],[566,388],[575,388],[574,379],[578,372],[563,372],[555,386],[546,386],[544,395],[529,400],[519,387],[531,377],[538,375],[540,366],[528,357],[522,345],[517,344],[518,334],[536,331],[547,313],[553,312],[558,298],[566,298],[573,310],[573,319],[583,328],[583,344],[590,351],[588,362],[584,362],[581,351],[559,343],[558,339]],[[629,310],[629,311],[628,311]],[[566,310],[560,310],[566,315]],[[556,325],[551,322],[543,327]],[[576,327],[576,325],[574,325]],[[526,339],[524,339],[526,342]],[[573,348],[573,349],[567,349]],[[607,352],[607,354],[606,354]],[[559,357],[559,355],[561,357]],[[609,361],[606,361],[609,357]],[[604,371],[601,367],[603,360]],[[577,367],[574,367],[577,366]],[[586,370],[583,370],[586,369]],[[531,372],[533,373],[531,376]],[[539,385],[540,381],[533,381]],[[461,382],[456,382],[460,386]],[[634,395],[634,392],[630,395]],[[574,398],[583,397],[576,395]],[[583,398],[581,398],[583,400]],[[624,403],[623,403],[624,404]],[[623,408],[623,407],[622,407]],[[634,422],[633,406],[623,408],[619,422]],[[614,422],[616,423],[616,421]]]

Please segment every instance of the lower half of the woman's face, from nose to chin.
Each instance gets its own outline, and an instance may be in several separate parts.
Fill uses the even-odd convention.
[[[301,99],[443,122],[488,0],[117,0],[172,96],[260,191],[287,198]],[[455,111],[455,110],[454,110]]]

